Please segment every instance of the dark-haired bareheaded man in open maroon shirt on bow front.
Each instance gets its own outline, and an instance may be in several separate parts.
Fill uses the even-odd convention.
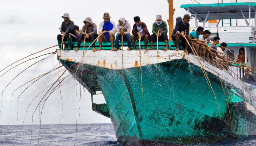
[[[140,17],[139,16],[135,16],[133,18],[135,24],[133,24],[133,28],[132,28],[132,46],[133,49],[136,49],[135,46],[135,40],[144,40],[144,47],[145,49],[147,49],[147,42],[148,42],[148,38],[150,36],[148,30],[147,30],[147,25],[144,22],[140,22]],[[139,38],[139,34],[140,34],[140,38]]]

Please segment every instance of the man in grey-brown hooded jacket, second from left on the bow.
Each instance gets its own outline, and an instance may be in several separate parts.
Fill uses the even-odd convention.
[[[97,25],[91,21],[90,17],[87,17],[83,21],[84,25],[80,31],[80,37],[77,41],[76,49],[75,51],[79,50],[79,47],[82,43],[82,40],[85,39],[86,42],[93,42],[95,38],[98,37],[97,34]],[[86,30],[86,32],[85,32]],[[95,42],[92,44],[92,50],[95,51]]]

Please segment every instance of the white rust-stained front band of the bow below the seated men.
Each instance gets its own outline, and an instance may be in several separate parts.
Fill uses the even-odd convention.
[[[84,51],[85,52],[85,51]],[[122,61],[123,54],[123,61]],[[60,56],[60,50],[57,50],[57,55]],[[140,66],[140,58],[141,65],[150,65],[156,64],[166,61],[173,61],[177,59],[184,58],[184,51],[175,51],[175,50],[148,50],[144,53],[144,50],[101,50],[101,51],[91,51],[88,50],[83,57],[83,51],[61,51],[61,59],[66,61],[80,62],[83,64],[95,65],[108,69],[126,69],[126,68],[134,68]],[[123,63],[122,63],[123,62]]]

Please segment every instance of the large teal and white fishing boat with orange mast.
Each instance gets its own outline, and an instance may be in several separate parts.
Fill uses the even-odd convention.
[[[174,9],[172,0],[168,3],[171,34]],[[188,4],[181,8],[203,22],[212,38],[218,33],[234,54],[245,47],[248,62],[243,65],[256,68],[256,22],[254,26],[250,23],[251,16],[256,18],[256,3]],[[230,20],[230,26],[205,27],[209,19],[217,19],[218,24],[230,19],[249,21],[247,26],[231,26]],[[229,66],[229,71],[216,68],[195,55],[176,51],[173,41],[167,51],[163,51],[164,42],[155,42],[158,49],[145,53],[139,49],[111,51],[110,43],[102,43],[102,50],[94,52],[87,50],[89,42],[81,44],[84,50],[74,51],[76,42],[67,43],[67,50],[57,50],[57,59],[91,93],[93,111],[111,119],[118,143],[195,144],[256,134],[255,86],[240,80],[240,64]],[[139,45],[144,42],[136,41]],[[93,102],[98,92],[106,103]]]

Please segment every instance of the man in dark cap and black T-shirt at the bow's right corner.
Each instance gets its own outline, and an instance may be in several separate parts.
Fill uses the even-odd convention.
[[[189,21],[192,19],[188,14],[185,14],[183,16],[183,20],[176,22],[176,26],[174,29],[174,35],[172,35],[173,41],[176,41],[176,51],[180,50],[180,40],[182,41],[182,45],[185,49],[184,51],[188,53],[188,43],[184,39],[184,37],[187,38],[188,42],[190,42],[190,36],[189,36]]]

